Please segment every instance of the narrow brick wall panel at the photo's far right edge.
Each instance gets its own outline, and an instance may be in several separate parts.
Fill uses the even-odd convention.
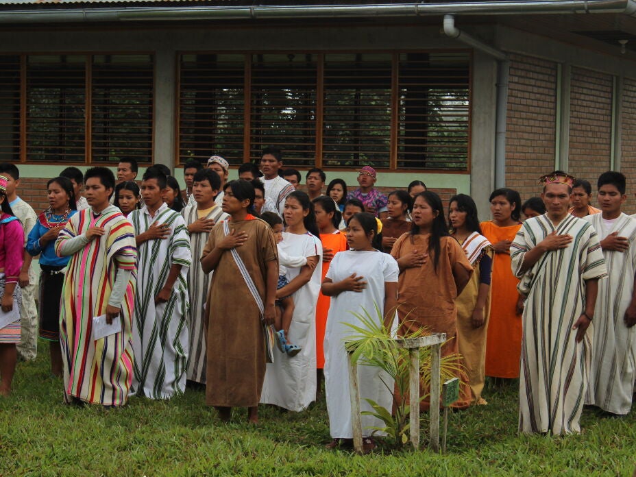
[[[636,79],[625,78],[621,99],[621,172],[627,177],[627,202],[624,211],[636,213]]]

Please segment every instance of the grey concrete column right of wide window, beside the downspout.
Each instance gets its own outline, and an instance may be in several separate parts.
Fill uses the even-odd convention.
[[[472,73],[470,195],[480,219],[486,220],[490,217],[488,198],[495,185],[497,61],[474,50]]]

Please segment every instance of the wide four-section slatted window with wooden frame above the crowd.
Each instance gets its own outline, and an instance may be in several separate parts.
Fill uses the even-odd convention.
[[[470,62],[469,51],[182,53],[178,156],[240,164],[274,145],[289,167],[467,171]]]

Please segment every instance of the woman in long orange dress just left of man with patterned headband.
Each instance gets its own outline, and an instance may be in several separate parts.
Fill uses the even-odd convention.
[[[495,249],[491,280],[490,317],[486,337],[486,376],[519,378],[523,297],[511,268],[510,245],[521,228],[521,197],[499,188],[490,195],[493,220],[480,223],[482,234]]]

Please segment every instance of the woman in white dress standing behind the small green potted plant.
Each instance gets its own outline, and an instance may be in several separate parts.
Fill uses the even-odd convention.
[[[384,325],[396,326],[400,270],[395,258],[371,245],[377,233],[378,223],[373,215],[365,212],[354,215],[347,228],[350,250],[334,256],[322,284],[323,295],[331,297],[324,341],[327,411],[333,438],[328,448],[350,445],[353,437],[345,341],[356,332],[347,323],[364,326],[354,313],[365,315],[366,310],[369,316],[376,318],[377,306],[383,312]],[[359,366],[358,383],[363,411],[372,411],[365,400],[371,399],[391,413],[393,380],[385,371],[379,367]],[[363,445],[369,451],[375,447],[369,428],[381,427],[382,421],[363,415],[362,424]]]

